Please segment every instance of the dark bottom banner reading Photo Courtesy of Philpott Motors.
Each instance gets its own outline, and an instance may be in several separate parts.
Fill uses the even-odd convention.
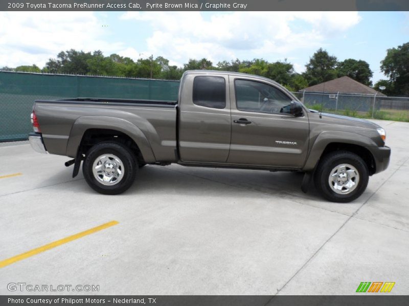
[[[403,306],[403,295],[20,295],[0,296],[2,306],[92,306],[92,305],[155,305],[155,306]]]

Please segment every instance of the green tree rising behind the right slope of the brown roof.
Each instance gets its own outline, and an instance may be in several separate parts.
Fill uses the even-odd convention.
[[[347,75],[347,77],[350,77],[359,83],[367,86],[372,85],[371,78],[373,73],[366,61],[346,59],[345,61],[338,63],[337,70],[338,78]]]

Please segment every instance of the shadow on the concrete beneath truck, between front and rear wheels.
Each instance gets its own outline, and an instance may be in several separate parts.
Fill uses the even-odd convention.
[[[297,172],[147,165],[126,194],[254,197],[260,193],[298,202],[323,201],[313,184],[303,193],[302,180],[303,173]]]

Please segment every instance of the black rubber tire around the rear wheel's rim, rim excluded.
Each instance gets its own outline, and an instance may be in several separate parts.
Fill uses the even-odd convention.
[[[122,161],[123,177],[111,186],[103,185],[93,173],[93,165],[102,155],[113,155]],[[123,167],[123,168],[122,168]],[[86,154],[82,164],[82,172],[89,187],[102,194],[120,194],[126,191],[134,182],[138,170],[138,161],[132,151],[121,143],[101,142],[94,145]]]

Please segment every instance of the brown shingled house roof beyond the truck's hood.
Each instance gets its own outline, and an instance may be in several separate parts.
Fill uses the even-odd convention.
[[[377,96],[386,96],[383,93],[376,91],[375,89],[363,85],[350,77],[341,77],[328,82],[320,83],[314,86],[310,86],[300,91],[306,92],[328,92],[328,93],[355,93],[355,94],[370,94]]]

